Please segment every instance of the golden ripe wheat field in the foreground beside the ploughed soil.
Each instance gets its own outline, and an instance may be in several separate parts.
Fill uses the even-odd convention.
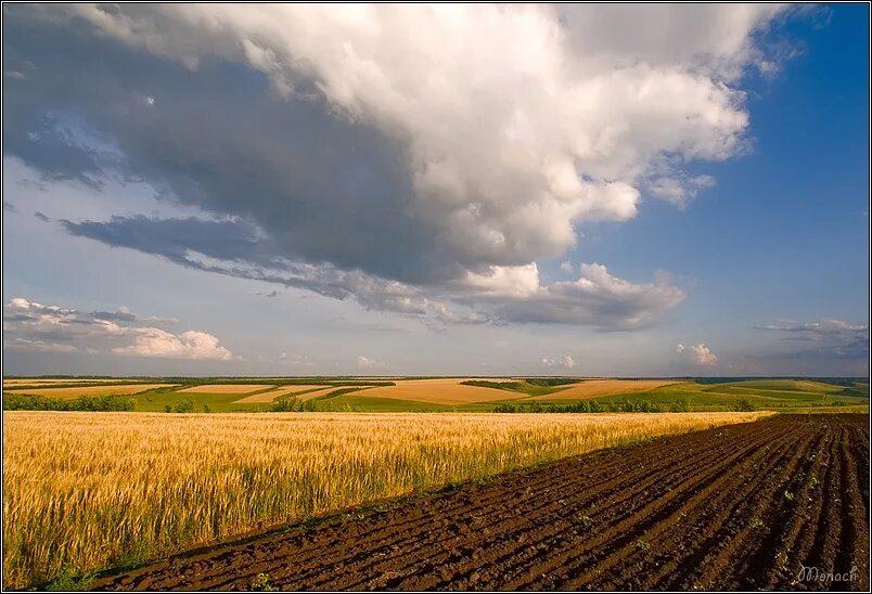
[[[3,413],[3,586],[767,413]]]

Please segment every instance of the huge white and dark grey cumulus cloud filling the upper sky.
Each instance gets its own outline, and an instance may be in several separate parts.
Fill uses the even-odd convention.
[[[743,150],[780,9],[645,10],[7,5],[3,146],[204,216],[64,223],[110,245],[441,320],[641,327],[683,293],[536,262],[714,183],[683,164]]]

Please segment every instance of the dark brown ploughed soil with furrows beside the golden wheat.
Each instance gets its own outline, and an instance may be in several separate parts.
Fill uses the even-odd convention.
[[[180,555],[94,587],[247,590],[266,573],[282,590],[868,590],[869,496],[868,416],[782,415]],[[818,579],[799,580],[803,566]]]

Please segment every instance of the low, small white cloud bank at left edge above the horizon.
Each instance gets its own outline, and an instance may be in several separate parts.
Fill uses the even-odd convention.
[[[3,347],[30,352],[97,353],[230,360],[232,353],[211,334],[174,334],[143,323],[175,324],[175,320],[141,318],[126,307],[86,313],[13,297],[3,308]],[[132,340],[132,343],[130,343]],[[112,346],[121,343],[119,346]]]

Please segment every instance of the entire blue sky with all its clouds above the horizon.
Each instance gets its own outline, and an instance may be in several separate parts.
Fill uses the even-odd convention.
[[[869,7],[3,5],[3,373],[869,374]]]

